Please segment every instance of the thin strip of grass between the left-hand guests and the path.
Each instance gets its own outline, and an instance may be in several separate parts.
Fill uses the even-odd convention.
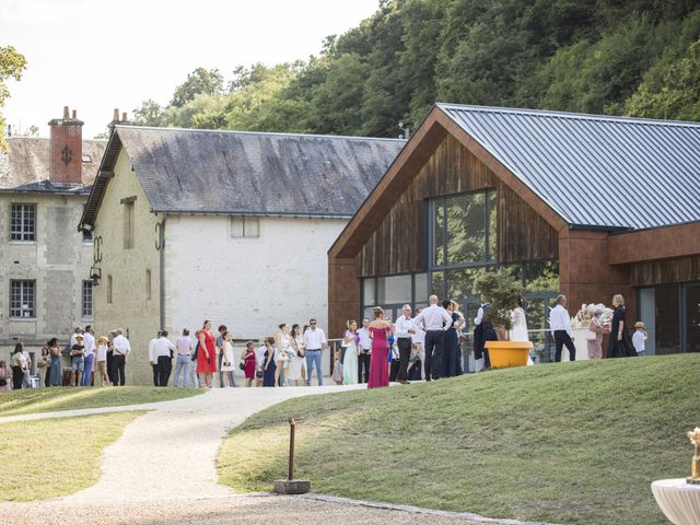
[[[0,417],[170,401],[202,393],[152,386],[27,388],[0,394]]]

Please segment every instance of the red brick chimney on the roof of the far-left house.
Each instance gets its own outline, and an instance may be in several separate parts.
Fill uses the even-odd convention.
[[[63,118],[48,122],[51,128],[49,180],[54,184],[83,184],[83,121],[73,109],[63,107]]]

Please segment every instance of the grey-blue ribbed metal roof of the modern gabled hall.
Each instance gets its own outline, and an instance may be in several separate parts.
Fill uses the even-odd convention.
[[[700,221],[700,124],[438,104],[571,226]]]

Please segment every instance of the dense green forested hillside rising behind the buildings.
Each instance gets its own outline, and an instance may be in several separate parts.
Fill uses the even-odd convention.
[[[318,56],[229,77],[198,69],[137,119],[396,137],[442,101],[698,120],[700,2],[383,0]]]

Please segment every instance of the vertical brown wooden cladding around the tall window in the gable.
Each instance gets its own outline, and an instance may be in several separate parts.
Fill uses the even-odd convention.
[[[488,188],[498,197],[498,260],[557,258],[557,231],[448,135],[355,257],[358,276],[425,271],[428,200]]]

